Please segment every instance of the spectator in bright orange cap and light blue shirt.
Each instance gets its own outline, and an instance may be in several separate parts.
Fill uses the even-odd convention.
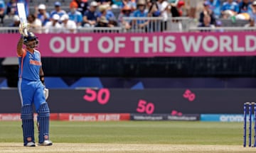
[[[78,4],[70,4],[70,12],[68,12],[69,19],[74,21],[76,26],[80,28],[82,26],[82,13],[78,10]]]

